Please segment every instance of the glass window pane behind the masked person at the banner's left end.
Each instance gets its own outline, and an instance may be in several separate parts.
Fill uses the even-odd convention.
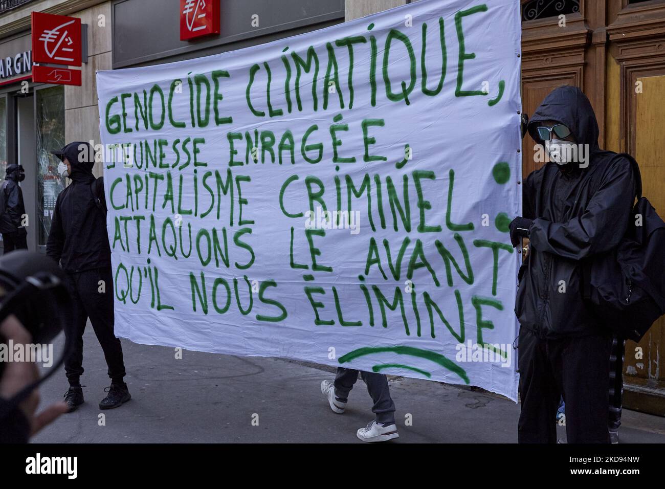
[[[36,90],[37,94],[37,213],[39,245],[46,245],[55,200],[65,188],[58,174],[60,160],[51,154],[65,146],[65,90],[62,86]]]

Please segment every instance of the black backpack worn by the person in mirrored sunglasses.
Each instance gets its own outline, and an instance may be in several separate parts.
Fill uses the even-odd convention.
[[[584,295],[609,329],[640,341],[665,314],[665,222],[642,197],[637,162],[628,154],[637,184],[628,229],[618,246],[589,259],[584,271]]]

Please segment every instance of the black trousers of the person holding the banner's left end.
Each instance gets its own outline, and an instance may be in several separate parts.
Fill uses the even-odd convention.
[[[88,317],[104,351],[108,377],[121,383],[125,376],[122,345],[113,332],[113,277],[111,269],[98,268],[66,274],[66,285],[72,299],[72,352],[65,360],[65,373],[72,386],[80,385],[83,373],[83,332]]]

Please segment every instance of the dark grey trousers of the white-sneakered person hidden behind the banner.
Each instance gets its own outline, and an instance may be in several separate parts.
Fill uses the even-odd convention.
[[[367,385],[367,392],[370,394],[374,405],[372,412],[376,416],[376,422],[382,424],[392,424],[395,422],[395,403],[390,397],[390,387],[388,387],[388,377],[382,373],[360,371],[360,377]],[[353,389],[358,381],[358,371],[354,369],[344,369],[337,367],[337,374],[334,377],[334,395],[342,402],[348,399],[348,393]]]

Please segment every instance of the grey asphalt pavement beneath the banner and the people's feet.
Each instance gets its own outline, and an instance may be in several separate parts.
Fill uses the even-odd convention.
[[[59,355],[63,336],[55,343]],[[45,443],[360,442],[373,419],[362,380],[344,414],[321,395],[331,367],[273,358],[243,358],[137,345],[122,339],[132,400],[100,410],[110,384],[102,350],[88,323],[84,335],[84,405],[33,437]],[[64,369],[41,388],[41,405],[63,398]],[[390,378],[400,438],[412,443],[517,442],[519,405],[479,389]],[[103,416],[102,416],[103,415]],[[553,420],[554,422],[554,420]],[[557,426],[565,440],[565,428]],[[624,410],[622,442],[665,443],[665,418]]]

